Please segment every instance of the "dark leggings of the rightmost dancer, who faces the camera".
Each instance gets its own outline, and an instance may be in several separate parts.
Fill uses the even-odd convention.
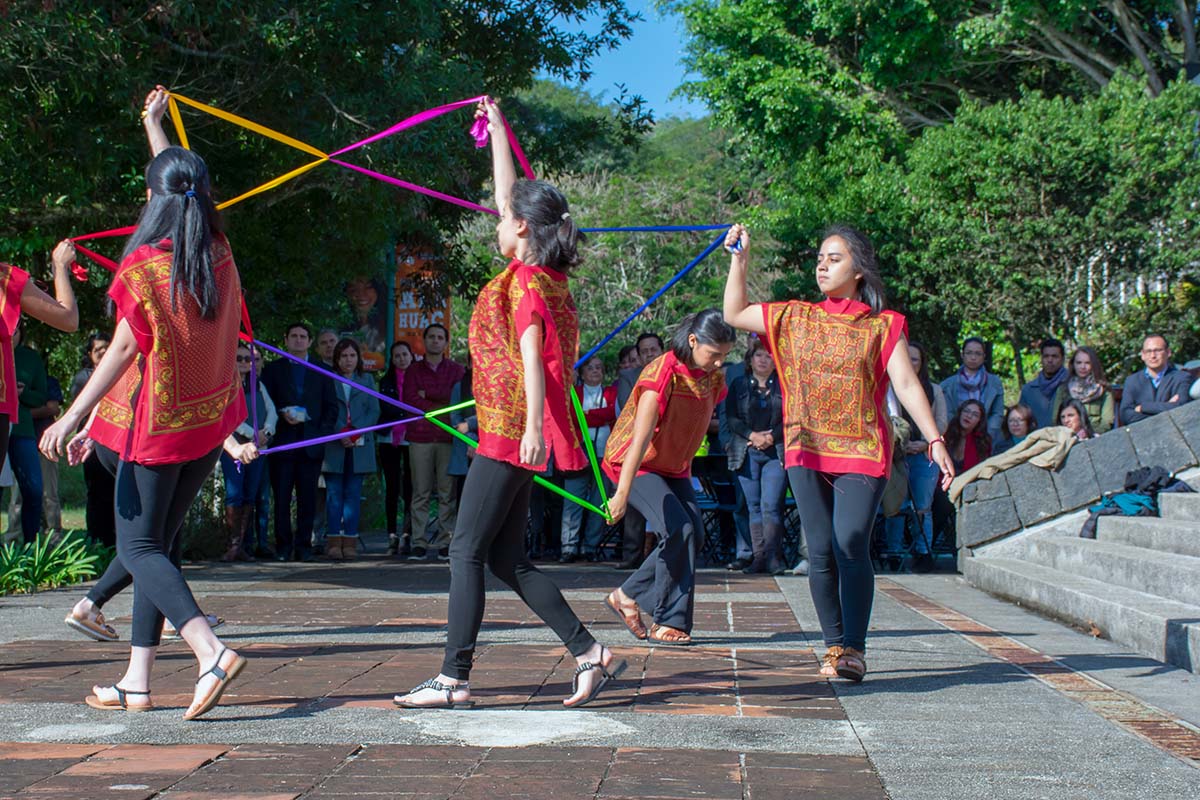
[[[826,645],[865,651],[875,601],[871,529],[887,481],[804,467],[788,468],[787,480],[809,545],[809,590]]]

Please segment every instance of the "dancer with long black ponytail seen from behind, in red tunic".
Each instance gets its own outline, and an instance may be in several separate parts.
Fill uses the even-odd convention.
[[[169,559],[222,445],[246,417],[234,361],[241,282],[204,161],[167,148],[146,168],[146,185],[149,199],[108,290],[118,317],[113,343],[41,447],[56,459],[140,354],[142,387],[118,451],[115,498],[116,554],[133,576],[132,648],[125,675],[113,686],[95,686],[88,704],[152,708],[150,673],[166,615],[199,662],[184,714],[193,720],[217,704],[246,663],[212,633]],[[253,445],[236,452],[246,461],[257,455]]]

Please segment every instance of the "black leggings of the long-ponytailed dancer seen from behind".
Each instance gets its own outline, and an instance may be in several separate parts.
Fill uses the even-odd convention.
[[[216,447],[180,464],[118,463],[116,557],[133,576],[130,643],[136,648],[158,645],[163,615],[176,631],[200,615],[192,590],[168,554],[220,455],[221,447]]]

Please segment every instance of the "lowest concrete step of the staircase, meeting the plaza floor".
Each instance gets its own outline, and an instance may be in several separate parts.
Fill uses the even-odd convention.
[[[1018,559],[965,559],[972,585],[1200,673],[1200,607]]]

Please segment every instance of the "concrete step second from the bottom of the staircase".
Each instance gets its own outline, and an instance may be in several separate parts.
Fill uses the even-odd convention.
[[[1078,537],[1027,536],[1024,558],[1069,575],[1182,603],[1200,602],[1200,558]]]

